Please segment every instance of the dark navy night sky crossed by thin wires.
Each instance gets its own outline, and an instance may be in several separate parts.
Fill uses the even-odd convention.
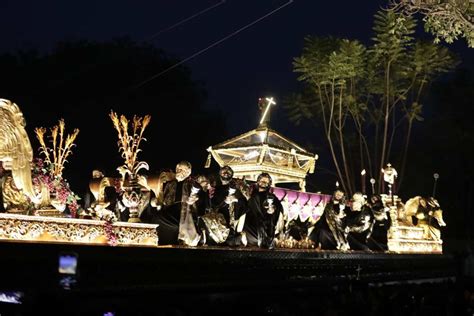
[[[219,0],[3,0],[0,1],[0,53],[28,48],[47,51],[57,41],[69,39],[101,41],[129,36],[142,41],[219,3]],[[284,0],[228,0],[161,33],[151,42],[185,59],[285,3]],[[225,113],[230,135],[240,134],[257,124],[258,97],[272,95],[278,102],[296,90],[292,59],[301,53],[305,35],[333,35],[369,43],[373,15],[385,3],[295,0],[185,65],[192,70],[194,79],[205,83],[209,93],[207,106]],[[463,40],[451,48],[472,64],[472,52]],[[137,112],[146,113],[146,109],[137,108]],[[305,135],[300,128],[289,124],[281,107],[273,113],[272,127],[303,145],[308,141],[324,142],[322,135]],[[329,166],[329,161],[329,157],[322,157],[320,163]]]

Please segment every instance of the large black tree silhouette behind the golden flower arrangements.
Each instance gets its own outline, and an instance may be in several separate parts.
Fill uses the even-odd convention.
[[[176,62],[160,49],[128,39],[62,42],[48,53],[0,55],[0,96],[20,106],[33,142],[35,127],[52,126],[60,118],[81,130],[65,170],[65,177],[79,186],[75,191],[86,188],[93,169],[116,176],[115,169],[123,164],[111,110],[151,115],[140,153],[150,172],[174,168],[183,159],[199,170],[207,157],[205,148],[220,141],[225,131],[222,114],[204,109],[203,84],[179,66],[138,86]],[[207,133],[208,126],[219,134]]]

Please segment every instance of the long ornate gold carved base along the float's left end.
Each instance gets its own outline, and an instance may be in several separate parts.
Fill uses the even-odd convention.
[[[157,246],[157,226],[1,213],[0,240]]]

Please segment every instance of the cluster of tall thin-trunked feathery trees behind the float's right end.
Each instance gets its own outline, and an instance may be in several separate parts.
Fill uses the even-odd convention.
[[[380,11],[372,46],[307,37],[302,55],[294,58],[304,90],[286,102],[289,117],[296,123],[322,122],[338,180],[348,193],[355,191],[362,169],[378,178],[380,190],[380,171],[388,162],[401,166],[401,184],[412,126],[423,119],[422,97],[432,80],[455,67],[446,48],[414,40],[415,26],[411,16]]]

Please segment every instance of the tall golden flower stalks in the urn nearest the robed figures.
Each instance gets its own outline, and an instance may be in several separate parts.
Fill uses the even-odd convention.
[[[145,117],[141,118],[134,115],[131,122],[131,133],[128,131],[130,121],[124,115],[120,115],[119,118],[117,113],[111,111],[109,116],[118,132],[119,152],[122,153],[122,158],[125,160],[125,163],[117,170],[124,179],[127,174],[132,179],[137,179],[138,171],[140,169],[148,170],[149,168],[145,161],[138,161],[137,156],[141,151],[139,148],[140,142],[142,140],[146,141],[146,138],[143,137],[143,132],[145,131],[148,124],[150,124],[151,116],[145,115]]]

